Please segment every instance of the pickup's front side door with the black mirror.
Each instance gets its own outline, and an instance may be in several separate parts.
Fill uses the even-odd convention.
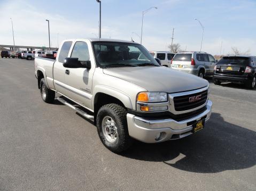
[[[90,47],[90,48],[89,48]],[[73,45],[70,57],[78,58],[79,61],[90,61],[94,57],[90,41],[76,41]],[[74,101],[91,108],[92,97],[92,76],[95,65],[91,64],[91,69],[87,68],[68,68],[65,74],[65,84],[67,85],[67,96]]]

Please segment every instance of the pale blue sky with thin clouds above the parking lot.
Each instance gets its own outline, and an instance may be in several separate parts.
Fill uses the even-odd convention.
[[[72,3],[71,3],[72,2]],[[50,5],[50,6],[49,6]],[[250,49],[256,55],[256,1],[188,1],[188,0],[102,0],[102,37],[135,41],[141,34],[142,11],[145,14],[143,45],[149,50],[165,51],[170,44],[172,29],[174,43],[187,51],[199,51],[201,27],[205,27],[203,51],[231,53],[231,47],[241,52]],[[0,44],[12,44],[13,19],[15,44],[48,46],[50,20],[51,43],[58,46],[67,38],[95,37],[98,34],[98,3],[83,1],[6,1],[0,0]],[[59,34],[59,35],[57,35]],[[95,35],[96,34],[96,35]],[[167,48],[168,50],[168,48]]]

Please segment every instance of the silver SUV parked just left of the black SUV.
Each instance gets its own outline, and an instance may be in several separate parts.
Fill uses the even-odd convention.
[[[213,75],[216,60],[206,52],[179,52],[172,60],[172,69],[194,74],[200,78]]]

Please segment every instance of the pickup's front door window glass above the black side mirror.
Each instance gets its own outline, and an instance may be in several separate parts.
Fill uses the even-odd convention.
[[[78,57],[79,61],[88,61],[88,60],[90,60],[87,43],[85,43],[85,42],[76,42],[75,46],[73,48],[71,57]]]

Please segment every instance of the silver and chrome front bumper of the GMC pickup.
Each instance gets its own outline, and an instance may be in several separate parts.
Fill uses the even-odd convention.
[[[134,114],[127,114],[129,135],[144,143],[158,143],[170,139],[179,139],[191,135],[191,121],[198,121],[202,118],[207,122],[212,113],[212,102],[207,101],[206,110],[191,119],[175,121],[173,119],[149,120],[137,117]],[[158,135],[160,134],[160,137]]]

